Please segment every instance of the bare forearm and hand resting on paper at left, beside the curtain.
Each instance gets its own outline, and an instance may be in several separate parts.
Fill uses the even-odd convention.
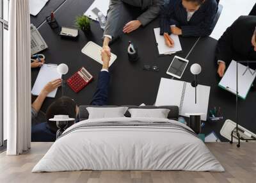
[[[31,97],[32,98],[32,104],[31,104],[32,126],[46,121],[45,113],[40,111],[40,109],[47,95],[51,93],[53,90],[55,90],[56,88],[58,88],[59,86],[61,86],[61,81],[62,81],[61,79],[55,79],[54,81],[47,83],[35,100],[33,100],[35,96],[32,95]]]

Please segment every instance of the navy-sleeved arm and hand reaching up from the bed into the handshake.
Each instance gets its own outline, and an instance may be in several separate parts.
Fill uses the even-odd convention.
[[[93,106],[105,106],[108,100],[108,85],[109,85],[109,60],[108,52],[102,50],[102,70],[99,73],[99,79],[96,92],[93,95],[91,105]]]

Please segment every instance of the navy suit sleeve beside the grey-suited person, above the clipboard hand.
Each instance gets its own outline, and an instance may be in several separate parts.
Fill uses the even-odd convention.
[[[173,18],[175,11],[174,8],[174,1],[170,1],[170,3],[162,6],[159,20],[160,35],[163,35],[164,33],[168,33],[168,35],[170,35],[172,33],[170,26],[177,24],[177,21]]]

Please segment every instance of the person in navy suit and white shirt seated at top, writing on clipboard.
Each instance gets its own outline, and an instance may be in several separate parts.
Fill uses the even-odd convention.
[[[216,0],[170,0],[160,14],[160,35],[208,36],[214,28]]]

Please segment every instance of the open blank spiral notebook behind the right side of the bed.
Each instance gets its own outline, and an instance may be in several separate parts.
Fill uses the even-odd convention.
[[[198,84],[196,87],[197,101],[195,104],[195,88],[186,81],[161,78],[156,106],[179,106],[179,113],[182,116],[186,113],[204,113],[201,116],[203,121],[207,120],[207,111],[210,97],[210,86]]]

